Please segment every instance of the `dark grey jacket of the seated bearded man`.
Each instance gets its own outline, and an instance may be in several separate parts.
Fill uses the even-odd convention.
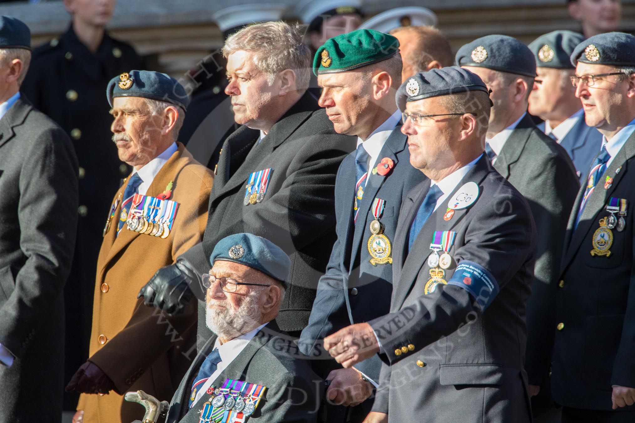
[[[201,364],[214,347],[216,336],[206,342],[178,386],[170,403],[166,423],[198,423],[203,404],[212,396],[203,395],[189,410],[190,389]],[[248,421],[283,423],[315,422],[324,393],[323,380],[314,374],[288,334],[276,322],[269,322],[251,339],[214,381],[239,380],[267,387],[264,400]]]

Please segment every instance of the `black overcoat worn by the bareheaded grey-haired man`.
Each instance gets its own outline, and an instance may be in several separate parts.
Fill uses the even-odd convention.
[[[257,144],[259,137],[260,131],[242,126],[225,140],[203,248],[184,256],[205,273],[214,246],[227,235],[246,232],[271,240],[291,258],[290,285],[276,321],[283,330],[299,331],[309,322],[318,280],[336,239],[335,175],[356,140],[336,134],[310,94],[304,94]],[[250,173],[270,167],[264,200],[244,205]],[[204,341],[210,335],[204,325],[204,291],[197,283],[192,289],[201,299],[199,339]]]

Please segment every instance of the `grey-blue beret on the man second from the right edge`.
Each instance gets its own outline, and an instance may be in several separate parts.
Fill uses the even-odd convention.
[[[572,69],[571,53],[582,41],[584,36],[578,32],[558,30],[538,37],[529,49],[539,68]]]

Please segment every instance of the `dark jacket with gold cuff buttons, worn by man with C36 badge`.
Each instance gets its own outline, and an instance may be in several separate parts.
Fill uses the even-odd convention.
[[[391,313],[369,322],[384,361],[373,410],[390,422],[453,422],[479,416],[487,422],[530,421],[526,392],[525,304],[530,296],[535,226],[522,195],[490,165],[474,164],[448,197],[473,181],[479,198],[446,221],[446,204],[432,213],[408,254],[408,233],[430,183],[408,193],[399,212],[393,260]],[[455,231],[450,254],[491,273],[498,287],[479,299],[464,288],[464,276],[446,270],[445,280],[425,294],[431,278],[427,257],[434,231]],[[466,282],[467,285],[471,282]],[[481,298],[490,298],[484,309]],[[403,353],[403,347],[406,352]],[[476,417],[474,418],[476,419]],[[472,419],[472,420],[474,420]]]

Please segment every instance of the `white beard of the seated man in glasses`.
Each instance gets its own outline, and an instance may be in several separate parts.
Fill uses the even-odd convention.
[[[206,306],[207,327],[224,339],[234,339],[257,328],[260,325],[258,294],[255,290],[251,291],[238,309],[232,308],[229,301],[211,300]],[[210,303],[220,304],[225,308],[211,308]]]

